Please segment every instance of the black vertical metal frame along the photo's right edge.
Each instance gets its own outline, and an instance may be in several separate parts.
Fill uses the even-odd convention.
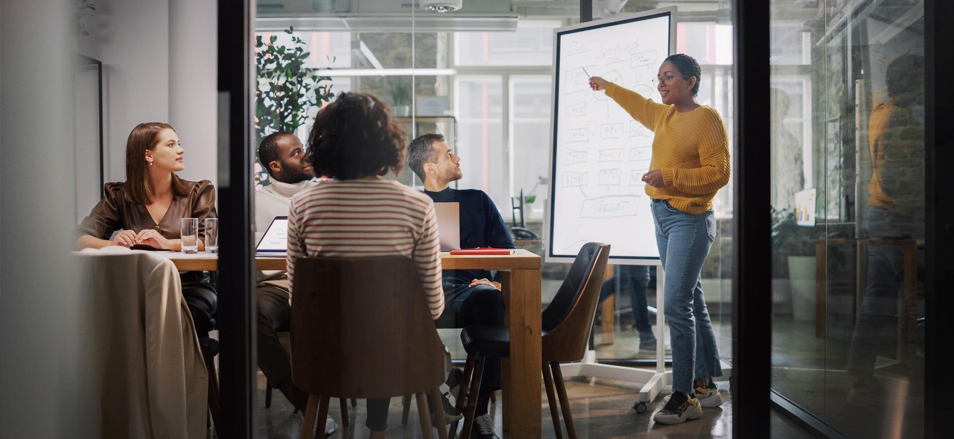
[[[954,178],[954,84],[948,42],[954,40],[949,0],[924,0],[924,437],[946,436],[954,408],[938,383],[947,379],[942,368],[949,340],[946,314],[954,306],[954,205],[948,199]]]

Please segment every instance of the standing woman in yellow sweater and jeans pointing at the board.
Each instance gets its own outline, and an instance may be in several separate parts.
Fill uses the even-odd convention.
[[[703,407],[722,404],[713,383],[722,369],[700,273],[716,237],[712,199],[729,181],[729,137],[716,110],[695,100],[701,76],[693,57],[677,53],[666,58],[653,79],[661,104],[601,77],[590,78],[592,90],[605,90],[655,134],[650,171],[642,180],[653,199],[673,347],[673,394],[653,416],[662,424],[697,419]]]

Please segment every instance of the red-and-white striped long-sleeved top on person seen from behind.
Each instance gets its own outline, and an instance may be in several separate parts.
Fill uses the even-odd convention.
[[[434,202],[398,181],[325,181],[292,199],[288,216],[288,285],[298,258],[404,255],[424,284],[430,315],[444,312],[441,242]],[[292,288],[294,291],[294,288]]]

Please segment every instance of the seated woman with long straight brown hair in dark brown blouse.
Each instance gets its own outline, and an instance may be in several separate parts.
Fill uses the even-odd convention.
[[[216,218],[216,190],[209,180],[176,176],[185,169],[185,150],[167,123],[136,125],[126,140],[126,181],[106,183],[105,196],[79,224],[74,247],[109,245],[180,250],[179,219],[198,219],[198,248],[204,248],[205,219]],[[217,294],[208,272],[183,272],[182,294],[199,336],[213,329]]]

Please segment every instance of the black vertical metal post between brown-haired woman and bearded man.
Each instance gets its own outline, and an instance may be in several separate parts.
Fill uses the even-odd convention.
[[[251,147],[255,64],[251,0],[218,3],[218,303],[221,425],[218,437],[255,433],[256,377],[255,248]]]

